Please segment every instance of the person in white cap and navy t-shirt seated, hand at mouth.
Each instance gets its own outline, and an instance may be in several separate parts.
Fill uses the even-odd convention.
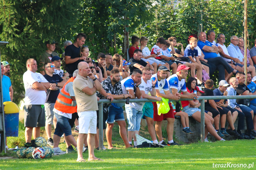
[[[228,95],[228,88],[229,84],[225,80],[221,80],[219,82],[219,87],[215,90],[213,90],[214,96],[227,96]],[[228,100],[227,99],[222,99],[222,100],[214,100],[214,102],[222,108],[227,114],[221,115],[220,118],[220,132],[222,135],[229,136],[229,135],[235,135],[236,137],[239,136],[238,132],[236,131],[234,127],[234,123],[236,121],[236,118],[238,116],[238,111],[235,109],[232,109],[231,107],[228,106]],[[240,117],[240,116],[239,116]],[[226,131],[225,129],[225,123],[226,119],[228,121],[228,129]]]

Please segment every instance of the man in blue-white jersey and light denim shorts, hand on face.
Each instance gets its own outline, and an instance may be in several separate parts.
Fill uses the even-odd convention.
[[[121,81],[123,94],[132,95],[132,98],[141,98],[139,85],[141,84],[141,70],[134,69],[132,75]],[[128,122],[128,142],[132,143],[134,132],[139,134],[140,122],[142,116],[142,108],[144,103],[129,103],[125,104],[125,111]],[[134,146],[137,146],[136,137],[134,139]]]

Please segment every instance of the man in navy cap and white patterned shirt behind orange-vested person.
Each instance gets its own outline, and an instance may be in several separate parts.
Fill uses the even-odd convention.
[[[61,60],[63,60],[63,58],[59,56],[53,56],[53,58],[51,59],[52,64],[55,67],[53,74],[60,75],[61,78],[65,80],[65,82],[67,82],[69,80],[69,73],[68,72],[64,73],[64,71],[61,69]]]

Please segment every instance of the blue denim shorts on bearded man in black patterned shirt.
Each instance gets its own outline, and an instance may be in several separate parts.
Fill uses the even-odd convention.
[[[125,120],[123,112],[124,112],[124,110],[122,107],[117,109],[113,105],[110,105],[108,119],[106,120],[106,123],[111,124],[116,121]]]

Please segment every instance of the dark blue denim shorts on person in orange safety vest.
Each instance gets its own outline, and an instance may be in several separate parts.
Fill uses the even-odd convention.
[[[66,136],[72,135],[71,126],[69,125],[69,118],[61,116],[57,113],[54,113],[54,115],[57,119],[54,135],[62,136],[63,133],[65,133]]]

